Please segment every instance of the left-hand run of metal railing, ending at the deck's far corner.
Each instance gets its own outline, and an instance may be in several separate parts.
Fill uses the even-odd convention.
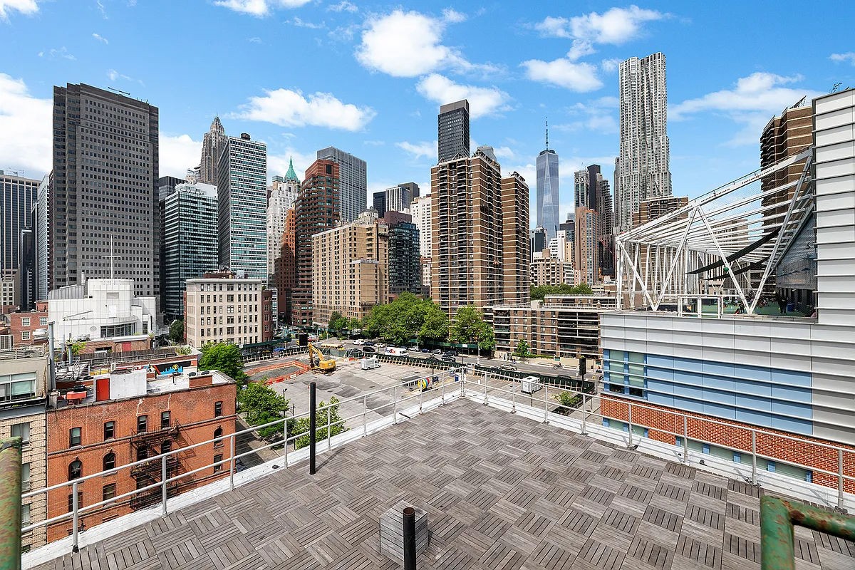
[[[437,372],[433,374],[433,381],[430,383],[431,388],[429,389],[429,393],[427,390],[422,389],[422,387],[420,387],[420,382],[422,381],[422,378],[418,378],[406,382],[401,382],[400,385],[386,386],[378,390],[366,392],[356,397],[339,400],[337,403],[325,403],[323,406],[318,406],[318,408],[316,409],[318,426],[316,427],[315,437],[320,438],[321,441],[326,440],[326,445],[321,445],[320,443],[318,444],[318,451],[329,451],[333,449],[333,438],[335,438],[333,431],[337,430],[338,426],[344,426],[347,432],[356,432],[357,436],[361,435],[362,437],[364,437],[367,436],[369,432],[374,431],[374,426],[372,426],[374,420],[369,422],[370,414],[375,414],[379,416],[378,419],[384,419],[385,414],[391,410],[391,423],[397,424],[398,421],[401,420],[401,418],[403,418],[404,420],[410,419],[410,412],[421,414],[422,410],[425,407],[425,404],[428,403],[428,401],[430,401],[431,405],[433,406],[445,403],[452,397],[459,397],[461,395],[461,388],[463,386],[465,372],[465,367],[458,367],[452,370]],[[426,393],[428,394],[428,398],[425,397]],[[437,393],[439,393],[438,396]],[[374,404],[377,398],[382,397],[383,395],[389,396],[390,401],[387,403],[382,403],[380,405],[374,405],[373,407],[369,408],[369,403]],[[435,402],[437,397],[439,397],[439,402]],[[344,415],[346,408],[351,408],[354,405],[358,406],[360,404],[362,410],[359,413],[347,415],[342,417],[340,420],[332,421],[332,416],[334,413],[333,408],[339,408],[339,410],[342,410],[340,414]],[[127,463],[119,467],[114,467],[106,471],[102,471],[99,473],[91,473],[89,475],[85,475],[83,477],[68,482],[63,482],[57,485],[50,485],[43,489],[37,489],[34,491],[21,493],[22,499],[37,496],[44,496],[45,499],[47,499],[50,493],[62,491],[62,496],[68,493],[70,501],[70,509],[68,513],[49,516],[49,518],[45,520],[33,521],[31,524],[24,526],[21,529],[21,533],[30,532],[34,529],[43,526],[49,527],[54,526],[58,523],[68,523],[68,521],[70,521],[72,523],[72,548],[76,552],[80,543],[80,523],[81,520],[87,515],[102,512],[104,509],[107,508],[115,508],[122,506],[123,503],[127,501],[127,504],[131,508],[143,508],[159,503],[161,506],[161,515],[166,516],[168,514],[168,498],[177,495],[177,489],[182,486],[186,489],[197,488],[200,481],[198,479],[189,478],[199,474],[204,474],[206,479],[225,479],[226,477],[228,477],[229,489],[234,489],[234,476],[235,473],[238,472],[238,461],[243,457],[257,454],[258,452],[263,450],[273,450],[274,448],[280,448],[280,456],[284,461],[284,467],[288,467],[291,461],[289,455],[292,455],[295,451],[298,450],[297,445],[295,445],[298,439],[306,438],[307,436],[309,436],[310,433],[309,429],[298,433],[289,433],[288,426],[293,425],[293,422],[296,420],[308,418],[309,416],[310,412],[307,410],[304,413],[293,414],[289,417],[283,417],[279,420],[274,420],[261,426],[251,426],[248,429],[222,435],[217,438],[211,438],[207,441],[199,442],[198,444],[186,445],[179,449],[170,450],[167,453],[146,457],[139,461],[133,461],[131,463]],[[326,423],[324,423],[324,421],[326,421]],[[387,422],[383,422],[383,426],[385,426],[386,423]],[[268,441],[268,443],[253,448],[249,451],[245,451],[239,454],[235,453],[238,438],[245,435],[251,435],[254,432],[258,432],[259,430],[271,427],[274,428],[274,432],[276,432],[277,434],[281,433],[281,436],[279,437],[277,435],[276,437],[272,438],[272,441]],[[157,433],[162,434],[166,432],[168,432],[168,429],[164,429],[161,432]],[[320,436],[317,435],[319,432]],[[344,432],[341,435],[344,435],[347,432]],[[144,434],[145,433],[151,432],[144,432]],[[338,446],[342,443],[343,442],[339,441],[335,442],[334,445]],[[217,455],[221,453],[222,459],[220,461],[212,461],[210,463],[207,463],[203,465],[203,467],[196,467],[193,469],[188,469],[186,471],[180,471],[180,469],[176,468],[180,465],[181,454],[187,454],[188,452],[192,452],[193,455],[196,455],[198,453],[198,450],[205,446],[213,447],[214,452]],[[303,446],[300,447],[302,449]],[[306,447],[308,447],[308,445]],[[159,464],[159,469],[154,467],[155,464]],[[156,480],[150,485],[144,485],[139,487],[139,489],[134,489],[132,491],[116,495],[115,497],[110,497],[109,499],[94,502],[92,504],[81,505],[79,502],[80,489],[83,487],[83,485],[85,485],[87,481],[100,481],[104,477],[115,475],[117,473],[127,473],[127,477],[132,478],[133,473],[151,473],[152,470],[159,471],[160,479]],[[98,483],[96,486],[98,489],[101,488],[100,483]],[[156,500],[152,500],[152,497],[155,497],[156,495],[159,495],[159,497],[157,497]],[[51,504],[50,501],[47,502],[49,505]]]

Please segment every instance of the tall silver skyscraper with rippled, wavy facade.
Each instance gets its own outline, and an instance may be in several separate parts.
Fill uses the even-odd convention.
[[[665,55],[621,62],[621,150],[616,162],[616,231],[625,232],[642,200],[671,195]]]

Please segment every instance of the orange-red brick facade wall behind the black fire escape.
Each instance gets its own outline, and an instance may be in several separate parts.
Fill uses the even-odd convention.
[[[223,435],[234,432],[235,398],[237,396],[234,384],[220,384],[199,387],[192,390],[173,391],[163,394],[150,395],[144,398],[127,400],[109,400],[82,406],[51,409],[47,414],[48,458],[47,485],[58,485],[68,482],[68,466],[75,459],[83,463],[83,476],[103,471],[103,457],[110,451],[116,455],[115,465],[127,465],[137,460],[137,446],[132,443],[132,436],[137,432],[137,416],[148,415],[148,431],[158,432],[161,425],[161,413],[169,410],[171,421],[180,426],[174,435],[160,432],[150,441],[149,456],[160,453],[162,441],[171,440],[172,449],[177,450],[192,444],[198,444],[214,437],[214,430],[222,428]],[[214,417],[214,403],[222,402],[221,417]],[[115,438],[104,441],[103,424],[115,421]],[[69,449],[69,431],[80,427],[81,445]],[[179,466],[175,474],[187,473],[193,469],[209,465],[215,454],[222,454],[223,459],[230,456],[229,444],[214,448],[214,444],[203,445],[194,450],[177,454]],[[223,472],[228,472],[228,466],[223,466]],[[156,480],[160,480],[160,469],[156,470]],[[198,485],[209,483],[210,480],[222,477],[215,474],[213,468],[180,479],[180,492],[188,491]],[[80,483],[79,491],[83,493],[83,505],[91,505],[102,501],[103,485],[115,483],[116,496],[137,488],[130,469],[122,469],[118,473],[96,477]],[[159,501],[159,490],[157,490]],[[48,518],[68,513],[68,496],[71,487],[64,487],[48,493]],[[98,509],[93,514],[81,516],[84,528],[101,524],[104,520],[128,514],[133,511],[128,498],[117,501],[117,506]],[[48,527],[48,541],[68,536],[73,524],[71,520],[63,520]]]

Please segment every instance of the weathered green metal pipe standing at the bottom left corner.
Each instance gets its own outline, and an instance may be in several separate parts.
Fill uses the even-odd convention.
[[[0,570],[21,570],[21,438],[0,440]]]

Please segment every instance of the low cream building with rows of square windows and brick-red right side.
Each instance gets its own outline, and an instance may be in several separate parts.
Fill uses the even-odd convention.
[[[186,343],[257,344],[273,338],[275,291],[264,279],[222,271],[187,279],[184,305]]]

